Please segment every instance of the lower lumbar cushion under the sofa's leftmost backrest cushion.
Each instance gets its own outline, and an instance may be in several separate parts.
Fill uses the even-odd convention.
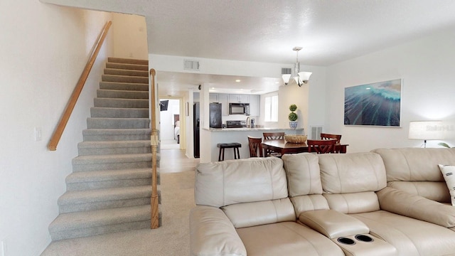
[[[224,210],[235,228],[296,220],[294,208],[289,198],[236,203],[223,206],[221,209]]]

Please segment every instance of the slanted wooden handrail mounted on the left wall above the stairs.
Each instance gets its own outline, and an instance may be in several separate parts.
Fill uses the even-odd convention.
[[[101,46],[105,42],[107,32],[109,31],[111,25],[112,21],[108,21],[105,24],[104,28],[102,28],[102,31],[97,38],[97,41],[95,41],[95,50],[93,50],[90,59],[85,65],[85,68],[82,71],[79,80],[77,81],[77,85],[73,90],[73,94],[70,97],[70,101],[68,102],[68,105],[66,106],[65,111],[63,112],[63,115],[60,118],[60,121],[58,122],[52,137],[50,137],[50,141],[48,144],[48,149],[50,151],[57,150],[58,142],[60,142],[60,138],[62,137],[66,124],[68,124],[68,120],[70,119],[71,113],[74,110],[80,92],[82,92],[82,88],[84,88],[85,81],[87,81],[88,75],[90,74],[90,70],[92,70],[93,64],[95,63],[98,53],[100,53]]]

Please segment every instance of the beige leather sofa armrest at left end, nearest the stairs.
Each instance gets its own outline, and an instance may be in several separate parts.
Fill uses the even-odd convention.
[[[190,212],[191,255],[245,256],[247,250],[220,208],[196,206]]]

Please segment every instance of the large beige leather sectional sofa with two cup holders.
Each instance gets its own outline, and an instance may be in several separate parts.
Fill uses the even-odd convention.
[[[455,149],[199,164],[191,255],[455,255]]]

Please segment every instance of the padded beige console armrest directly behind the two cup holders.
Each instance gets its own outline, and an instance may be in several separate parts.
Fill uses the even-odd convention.
[[[363,222],[336,210],[309,210],[301,213],[299,220],[331,239],[370,233]]]

